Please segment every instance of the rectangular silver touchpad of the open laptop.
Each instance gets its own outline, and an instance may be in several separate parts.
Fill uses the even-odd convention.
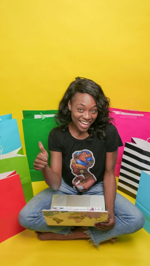
[[[89,207],[90,196],[89,195],[67,195],[66,206],[71,207]]]

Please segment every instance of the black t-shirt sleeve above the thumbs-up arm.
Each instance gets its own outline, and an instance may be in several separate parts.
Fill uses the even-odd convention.
[[[57,128],[53,128],[49,133],[48,150],[62,152],[61,143],[59,141],[59,131]]]

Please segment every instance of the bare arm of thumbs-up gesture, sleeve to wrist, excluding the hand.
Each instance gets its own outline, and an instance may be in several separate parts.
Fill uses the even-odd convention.
[[[50,151],[51,163],[42,170],[46,184],[53,190],[58,190],[62,183],[62,153]]]

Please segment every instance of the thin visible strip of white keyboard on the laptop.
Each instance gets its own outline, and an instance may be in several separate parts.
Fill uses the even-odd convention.
[[[102,207],[69,207],[69,206],[53,206],[54,210],[66,211],[102,211]]]

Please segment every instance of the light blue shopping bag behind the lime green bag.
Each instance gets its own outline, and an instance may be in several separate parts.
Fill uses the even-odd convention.
[[[12,119],[12,114],[0,116],[0,146],[3,147],[3,154],[22,146],[17,120]]]

